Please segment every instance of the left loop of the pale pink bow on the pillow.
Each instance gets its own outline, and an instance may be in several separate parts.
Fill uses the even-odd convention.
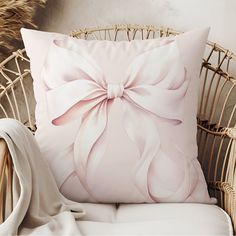
[[[52,42],[42,78],[54,125],[78,119],[106,98],[102,70],[91,58],[64,48],[63,41]]]

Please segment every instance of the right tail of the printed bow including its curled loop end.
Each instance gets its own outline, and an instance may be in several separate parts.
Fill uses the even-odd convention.
[[[137,189],[145,199],[153,202],[180,202],[186,200],[193,188],[189,185],[190,179],[193,183],[196,182],[196,180],[194,181],[196,174],[194,175],[193,168],[191,168],[191,171],[194,176],[190,176],[188,171],[190,168],[187,165],[191,163],[187,163],[185,158],[181,158],[184,153],[180,153],[176,148],[173,156],[163,152],[155,118],[152,118],[150,113],[147,115],[145,111],[137,111],[139,108],[133,106],[127,100],[123,104],[126,132],[136,144],[140,153],[140,160],[133,169],[133,178]],[[177,158],[177,155],[180,159]],[[178,159],[178,162],[181,163],[178,168],[173,164],[175,159]],[[165,183],[170,173],[163,172],[163,169],[159,168],[160,166],[167,167],[167,171],[177,172],[177,176],[181,178],[180,184],[163,185],[162,183]]]

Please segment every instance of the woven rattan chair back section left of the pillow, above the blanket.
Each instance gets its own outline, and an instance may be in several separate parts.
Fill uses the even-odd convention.
[[[0,63],[0,118],[17,119],[35,131],[34,109],[29,59],[18,50]]]

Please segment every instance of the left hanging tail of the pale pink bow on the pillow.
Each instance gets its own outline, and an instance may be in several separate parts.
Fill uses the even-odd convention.
[[[91,190],[87,184],[87,170],[90,154],[96,142],[103,135],[107,125],[107,100],[99,103],[94,109],[84,114],[82,124],[74,143],[74,162],[81,184],[91,198]],[[96,159],[103,155],[104,148],[96,152]]]

